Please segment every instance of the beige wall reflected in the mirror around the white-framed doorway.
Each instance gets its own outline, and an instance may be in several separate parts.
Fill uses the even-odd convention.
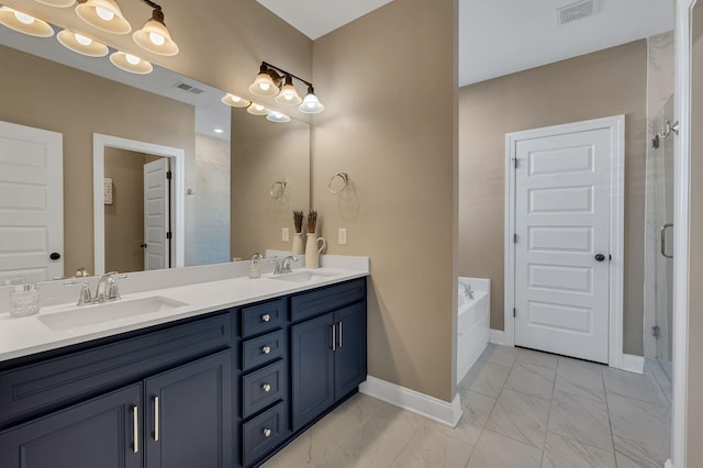
[[[93,270],[93,133],[183,148],[193,185],[193,107],[4,46],[0,63],[0,120],[64,134],[65,275]],[[192,210],[187,200],[186,220]],[[188,264],[193,223],[186,224]]]

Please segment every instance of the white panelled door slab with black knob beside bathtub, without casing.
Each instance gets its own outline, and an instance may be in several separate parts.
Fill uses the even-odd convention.
[[[612,133],[515,142],[515,344],[609,361]]]

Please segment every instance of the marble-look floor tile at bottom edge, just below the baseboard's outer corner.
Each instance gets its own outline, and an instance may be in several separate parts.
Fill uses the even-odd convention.
[[[429,427],[410,441],[391,467],[465,467],[473,446]]]

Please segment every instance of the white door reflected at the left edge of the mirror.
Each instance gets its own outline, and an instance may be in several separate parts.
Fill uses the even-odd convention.
[[[0,122],[0,285],[64,276],[60,133]]]

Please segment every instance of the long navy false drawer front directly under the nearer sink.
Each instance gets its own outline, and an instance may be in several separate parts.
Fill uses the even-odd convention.
[[[176,325],[0,372],[0,426],[223,349],[232,316]]]

